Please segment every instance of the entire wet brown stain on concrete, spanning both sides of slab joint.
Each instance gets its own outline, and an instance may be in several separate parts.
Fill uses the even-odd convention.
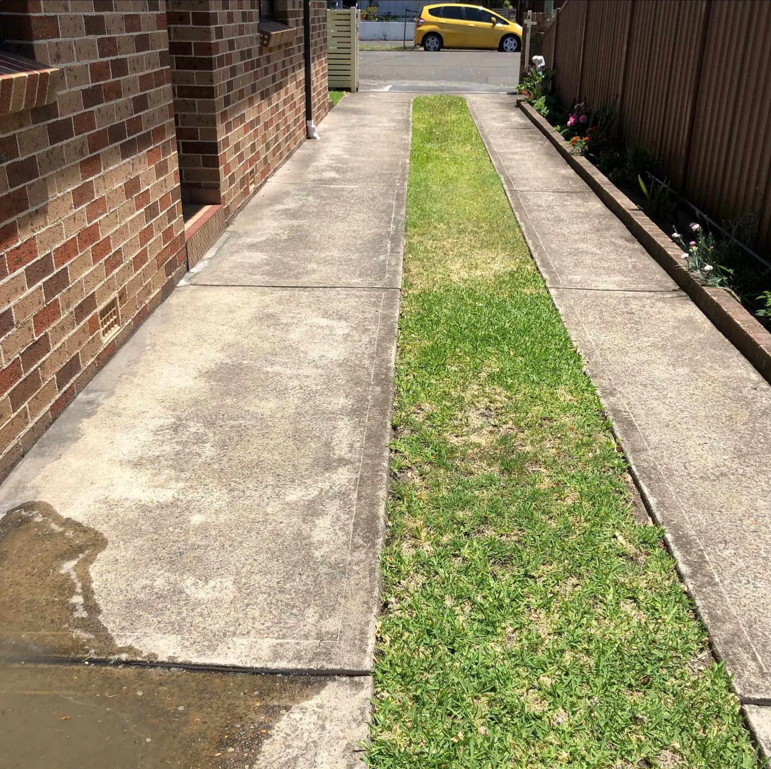
[[[123,664],[141,652],[116,646],[89,577],[106,544],[39,502],[0,519],[3,769],[257,766],[328,678]]]

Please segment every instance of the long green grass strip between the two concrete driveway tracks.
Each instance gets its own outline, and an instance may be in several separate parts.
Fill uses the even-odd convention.
[[[369,763],[755,767],[465,101],[412,120]]]

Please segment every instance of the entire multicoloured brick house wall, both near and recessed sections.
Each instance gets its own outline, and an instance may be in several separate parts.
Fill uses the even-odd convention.
[[[61,70],[53,101],[30,78],[6,104],[0,83],[0,478],[183,274],[177,144],[226,221],[305,138],[302,2],[276,5],[296,31],[266,50],[258,0],[169,0],[173,91],[166,3],[0,0],[2,48]],[[326,3],[311,8],[318,123]]]

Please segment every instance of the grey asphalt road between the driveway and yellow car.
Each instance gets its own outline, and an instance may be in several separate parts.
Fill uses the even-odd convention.
[[[518,53],[498,51],[362,51],[362,90],[508,93],[517,84]]]

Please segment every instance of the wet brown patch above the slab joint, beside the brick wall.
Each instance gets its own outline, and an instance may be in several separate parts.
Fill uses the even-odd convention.
[[[42,502],[0,519],[0,659],[142,657],[116,646],[99,619],[89,569],[106,546]]]

